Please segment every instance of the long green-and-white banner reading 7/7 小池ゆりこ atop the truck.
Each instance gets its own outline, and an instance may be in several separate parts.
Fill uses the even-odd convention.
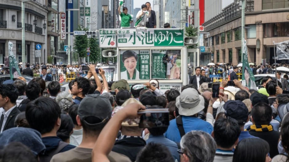
[[[107,31],[107,32],[106,32]],[[153,28],[118,29],[109,32],[102,30],[100,35],[100,47],[182,47],[184,46],[184,29],[165,28],[155,30]],[[112,35],[108,35],[111,33]],[[112,36],[116,36],[116,41],[112,41]]]

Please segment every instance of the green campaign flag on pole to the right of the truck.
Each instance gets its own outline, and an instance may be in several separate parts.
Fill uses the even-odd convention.
[[[257,89],[255,83],[254,74],[248,63],[248,51],[246,46],[246,40],[243,39],[243,66],[242,66],[242,85],[248,89]]]

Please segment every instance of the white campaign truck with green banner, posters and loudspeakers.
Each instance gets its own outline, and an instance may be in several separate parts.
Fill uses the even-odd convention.
[[[180,91],[188,84],[188,66],[196,67],[200,49],[188,49],[197,37],[182,28],[122,28],[99,30],[103,57],[117,57],[113,81],[130,85],[157,79],[160,90]]]

